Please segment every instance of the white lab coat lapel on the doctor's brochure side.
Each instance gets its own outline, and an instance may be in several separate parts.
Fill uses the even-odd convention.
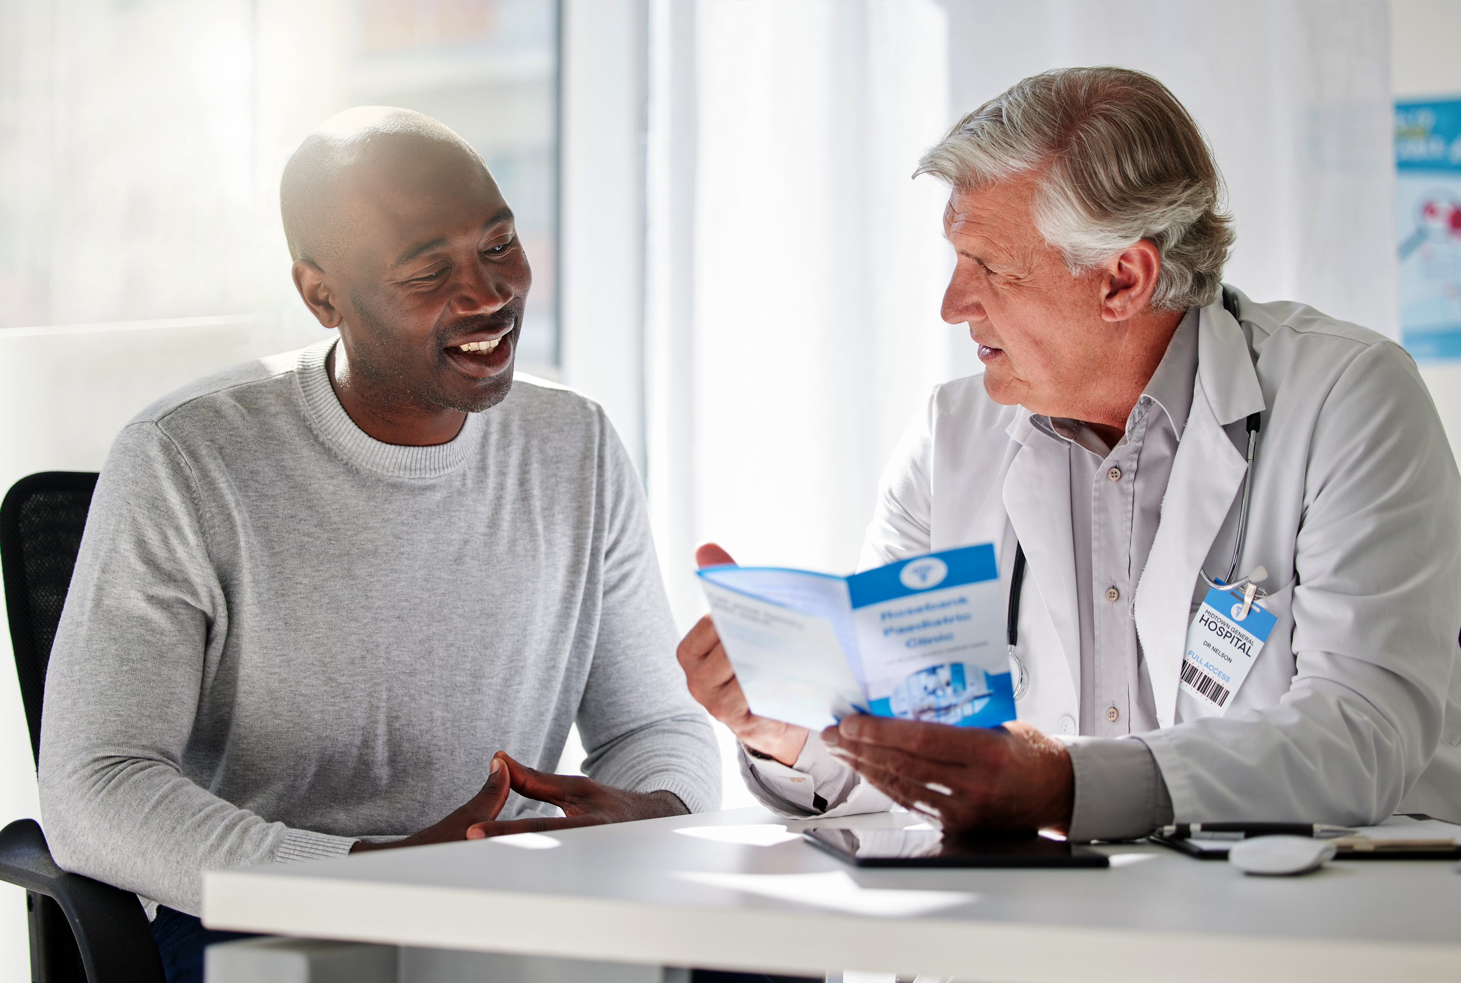
[[[1080,692],[1081,635],[1075,605],[1075,546],[1071,535],[1069,445],[1037,429],[1029,410],[1010,425],[1021,444],[1004,482],[1005,514],[1024,546],[1029,577],[1040,589],[1045,609],[1065,651],[1071,682]]]

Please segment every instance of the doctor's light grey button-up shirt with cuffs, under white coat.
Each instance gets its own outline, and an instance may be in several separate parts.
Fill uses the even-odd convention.
[[[1167,351],[1126,418],[1115,447],[1086,424],[1036,415],[1034,427],[1069,444],[1071,532],[1080,605],[1080,736],[1067,741],[1075,773],[1074,840],[1144,835],[1172,821],[1172,799],[1140,735],[1157,714],[1134,602],[1147,565],[1178,443],[1192,408],[1198,308],[1178,324]],[[787,767],[742,749],[752,793],[792,815],[843,815],[891,800],[827,754],[811,735]],[[811,779],[808,781],[808,779]]]

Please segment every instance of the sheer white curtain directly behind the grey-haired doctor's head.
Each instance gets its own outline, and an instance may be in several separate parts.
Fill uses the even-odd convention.
[[[948,0],[954,104],[1050,67],[1161,79],[1207,133],[1237,247],[1224,279],[1400,337],[1384,0]]]

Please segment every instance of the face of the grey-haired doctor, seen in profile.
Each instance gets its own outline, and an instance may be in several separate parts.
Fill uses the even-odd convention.
[[[1034,193],[1026,174],[950,196],[944,235],[957,263],[942,317],[969,324],[996,403],[1091,419],[1083,412],[1093,375],[1119,358],[1102,318],[1100,272],[1071,273],[1034,226]]]

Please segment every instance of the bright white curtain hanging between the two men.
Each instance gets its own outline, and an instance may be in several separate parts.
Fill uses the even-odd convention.
[[[850,571],[954,371],[945,196],[909,180],[950,121],[947,29],[934,0],[659,0],[650,23],[649,488],[688,622],[700,539]]]

